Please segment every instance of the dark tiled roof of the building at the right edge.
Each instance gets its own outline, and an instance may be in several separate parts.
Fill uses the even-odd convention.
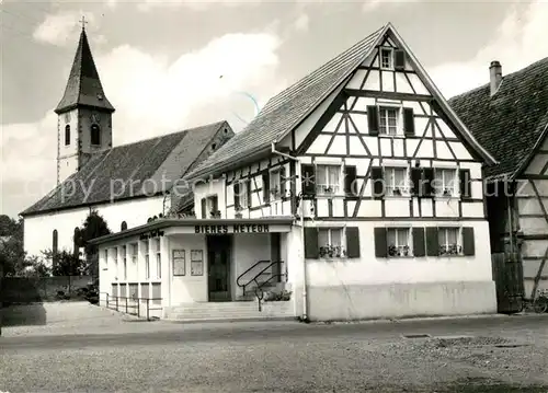
[[[493,96],[489,83],[449,100],[479,142],[498,160],[491,180],[521,173],[548,131],[548,57],[502,78]]]

